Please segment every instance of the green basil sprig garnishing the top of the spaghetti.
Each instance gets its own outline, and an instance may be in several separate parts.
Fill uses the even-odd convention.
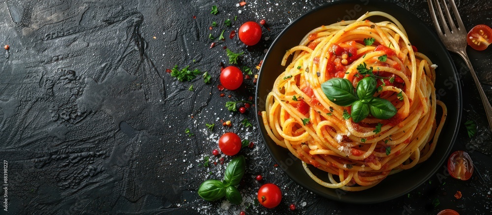
[[[358,123],[366,119],[369,113],[381,120],[390,119],[397,113],[390,101],[373,96],[376,86],[375,78],[369,76],[357,83],[354,93],[354,87],[349,80],[332,78],[321,84],[321,89],[333,103],[344,107],[352,105],[350,116],[354,123]]]

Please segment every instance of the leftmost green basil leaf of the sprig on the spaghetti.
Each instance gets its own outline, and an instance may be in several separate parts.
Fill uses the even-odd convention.
[[[344,78],[332,78],[321,84],[321,89],[330,101],[339,106],[349,106],[359,100],[355,97],[352,83]]]

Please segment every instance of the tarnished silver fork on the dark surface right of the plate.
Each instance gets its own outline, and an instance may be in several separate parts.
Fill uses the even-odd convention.
[[[433,7],[432,1],[435,2],[435,8]],[[441,5],[439,1],[442,1],[442,7],[444,8],[444,13],[446,14],[447,19],[444,17]],[[434,22],[435,29],[437,31],[437,35],[441,38],[441,41],[444,43],[446,48],[449,51],[455,52],[461,56],[461,58],[465,61],[466,65],[470,69],[471,76],[473,77],[473,81],[475,81],[475,85],[477,86],[478,92],[480,93],[480,97],[482,98],[482,103],[484,104],[485,113],[487,114],[487,120],[489,121],[489,127],[492,129],[492,107],[485,95],[484,89],[480,82],[478,81],[477,74],[471,65],[470,59],[466,54],[466,34],[468,33],[464,28],[463,22],[461,21],[460,14],[458,13],[458,9],[456,9],[456,4],[454,0],[449,0],[449,5],[453,9],[453,13],[455,15],[456,21],[458,22],[458,28],[456,28],[453,18],[451,17],[451,13],[448,9],[448,6],[444,0],[427,0],[429,3],[429,10],[431,11],[431,18]],[[439,16],[440,23],[437,21],[436,14],[434,12],[437,11],[437,15]],[[451,30],[448,28],[448,24]],[[444,33],[441,31],[444,30]]]

